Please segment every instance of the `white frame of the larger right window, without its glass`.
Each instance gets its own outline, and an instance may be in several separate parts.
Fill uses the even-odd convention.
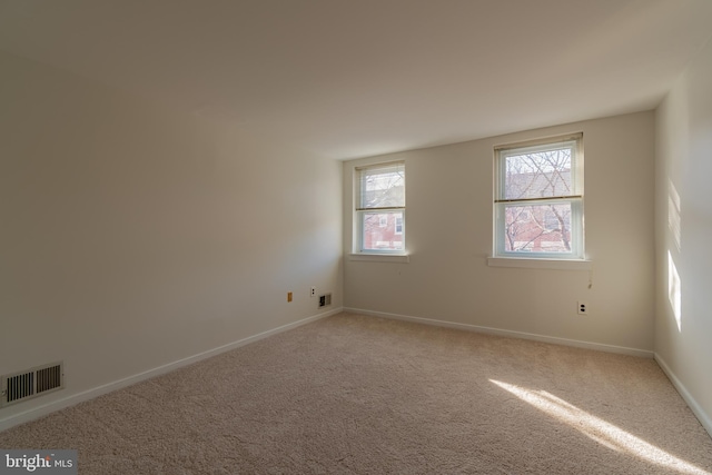
[[[572,190],[566,196],[551,196],[542,199],[506,199],[504,195],[506,182],[506,158],[532,151],[544,151],[557,148],[571,148]],[[494,249],[495,258],[514,259],[550,259],[550,260],[584,260],[584,179],[583,179],[583,133],[566,135],[554,138],[531,140],[495,147],[495,195],[494,195]],[[515,251],[506,250],[506,217],[507,206],[521,205],[553,205],[567,204],[571,206],[571,240],[570,253]]]

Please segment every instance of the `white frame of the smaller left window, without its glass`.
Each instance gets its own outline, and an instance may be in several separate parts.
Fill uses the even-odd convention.
[[[404,180],[404,197],[403,197],[403,205],[402,206],[386,206],[386,207],[365,207],[363,206],[362,202],[362,175],[364,172],[373,172],[373,171],[377,171],[379,169],[385,170],[393,170],[395,168],[398,168],[400,170],[403,170],[403,180]],[[368,165],[368,166],[364,166],[364,167],[356,167],[354,170],[354,190],[355,190],[355,199],[354,199],[354,204],[355,204],[355,211],[354,211],[354,216],[355,216],[355,225],[356,225],[356,232],[357,232],[357,238],[356,238],[356,249],[354,249],[354,251],[356,254],[372,254],[372,255],[406,255],[406,241],[405,241],[405,161],[393,161],[393,162],[383,162],[383,164],[375,164],[375,165]],[[395,235],[399,236],[402,238],[402,243],[403,246],[400,249],[365,249],[364,248],[364,232],[365,232],[365,227],[364,227],[364,220],[366,215],[372,214],[374,211],[383,211],[383,212],[402,212],[403,216],[403,221],[402,221],[402,231],[400,232],[394,232]]]

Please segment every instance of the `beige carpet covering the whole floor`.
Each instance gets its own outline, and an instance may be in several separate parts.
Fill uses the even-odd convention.
[[[80,474],[712,473],[651,359],[342,314],[0,433]]]

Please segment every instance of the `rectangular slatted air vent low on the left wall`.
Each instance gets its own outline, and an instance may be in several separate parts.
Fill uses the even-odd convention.
[[[34,368],[3,375],[0,407],[20,403],[65,387],[63,364],[37,366]]]

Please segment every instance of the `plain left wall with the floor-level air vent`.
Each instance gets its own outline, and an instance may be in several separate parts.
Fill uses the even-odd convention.
[[[342,305],[342,166],[0,53],[3,420]],[[288,304],[287,291],[294,293]]]

